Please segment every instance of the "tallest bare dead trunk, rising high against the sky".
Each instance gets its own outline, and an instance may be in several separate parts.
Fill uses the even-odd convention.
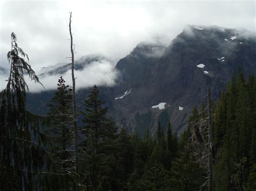
[[[73,36],[71,32],[71,17],[72,12],[70,12],[70,18],[69,18],[69,34],[70,34],[70,51],[71,51],[71,71],[72,71],[72,83],[73,83],[73,89],[72,89],[72,100],[73,100],[73,132],[74,132],[74,138],[75,138],[75,169],[76,173],[78,173],[78,136],[77,136],[77,110],[76,110],[76,80],[74,76],[74,49],[73,48]]]

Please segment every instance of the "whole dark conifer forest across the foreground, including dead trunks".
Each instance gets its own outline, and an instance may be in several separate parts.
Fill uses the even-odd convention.
[[[0,190],[256,190],[255,75],[239,68],[217,101],[209,87],[181,133],[171,121],[156,122],[155,133],[130,132],[107,115],[97,84],[77,109],[71,14],[73,83],[62,75],[52,82],[46,115],[26,109],[24,75],[45,84],[11,33],[0,102]]]

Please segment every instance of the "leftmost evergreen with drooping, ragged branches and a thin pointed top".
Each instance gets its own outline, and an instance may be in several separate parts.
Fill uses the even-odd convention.
[[[47,181],[46,174],[54,174],[53,162],[50,153],[44,148],[46,137],[41,130],[46,124],[45,118],[25,109],[26,90],[29,87],[23,74],[28,74],[36,83],[41,82],[28,63],[28,55],[18,47],[13,32],[11,51],[7,57],[10,75],[1,93],[0,105],[0,189],[37,189],[44,180]],[[46,173],[44,170],[51,172]]]

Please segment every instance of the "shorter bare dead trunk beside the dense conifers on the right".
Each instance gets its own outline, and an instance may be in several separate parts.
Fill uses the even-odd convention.
[[[212,105],[211,105],[211,89],[208,88],[208,183],[209,183],[209,191],[213,190],[213,162],[212,162]]]

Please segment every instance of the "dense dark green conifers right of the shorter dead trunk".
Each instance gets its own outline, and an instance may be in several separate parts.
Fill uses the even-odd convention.
[[[255,164],[255,78],[246,81],[239,69],[215,107],[215,186],[244,190]]]

